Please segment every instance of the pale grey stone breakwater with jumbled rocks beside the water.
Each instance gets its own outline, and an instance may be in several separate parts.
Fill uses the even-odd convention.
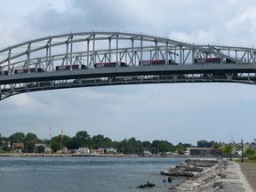
[[[239,164],[222,159],[188,159],[161,174],[169,177],[187,177],[188,180],[179,186],[172,186],[172,192],[254,191],[244,178]]]

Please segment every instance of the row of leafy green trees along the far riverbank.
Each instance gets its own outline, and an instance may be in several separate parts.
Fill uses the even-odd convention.
[[[70,150],[77,148],[116,148],[118,153],[124,154],[141,154],[143,151],[148,150],[152,154],[176,151],[182,155],[187,147],[191,147],[190,144],[183,144],[181,142],[177,145],[172,145],[167,140],[153,140],[150,142],[148,140],[136,140],[134,137],[122,141],[114,141],[101,134],[90,136],[86,131],[76,132],[74,137],[60,134],[52,137],[51,140],[40,140],[36,134],[31,132],[28,132],[28,134],[15,132],[10,137],[2,137],[0,134],[0,143],[2,145],[1,150],[4,152],[12,151],[12,143],[24,143],[22,151],[28,153],[44,151],[42,147],[36,148],[38,143],[51,145],[52,152],[57,152],[62,148]]]

